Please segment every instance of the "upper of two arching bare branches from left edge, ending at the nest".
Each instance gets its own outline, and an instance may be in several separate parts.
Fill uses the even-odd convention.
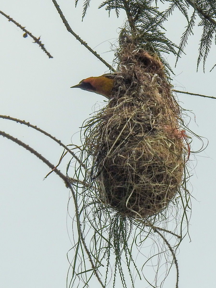
[[[18,123],[20,123],[20,124],[24,124],[24,125],[26,125],[26,126],[28,126],[28,127],[31,127],[31,128],[33,128],[33,129],[35,129],[35,130],[43,133],[43,134],[46,135],[46,136],[50,137],[52,140],[54,140],[55,142],[57,142],[60,146],[64,147],[65,150],[67,150],[67,151],[79,162],[79,164],[80,164],[84,169],[86,169],[86,166],[85,166],[83,163],[81,163],[81,161],[79,160],[79,158],[71,151],[71,149],[69,149],[69,148],[67,147],[67,146],[69,146],[69,145],[67,145],[67,146],[64,145],[64,144],[61,142],[61,140],[56,139],[56,137],[53,137],[51,134],[47,133],[46,131],[38,128],[37,126],[31,125],[29,122],[25,122],[24,120],[20,120],[20,119],[13,118],[13,117],[10,117],[10,116],[0,115],[0,118],[7,119],[7,120],[12,120],[12,121],[18,122]]]

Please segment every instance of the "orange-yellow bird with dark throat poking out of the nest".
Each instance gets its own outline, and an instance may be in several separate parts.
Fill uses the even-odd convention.
[[[72,86],[71,88],[81,88],[83,90],[101,94],[110,99],[114,77],[115,74],[104,74],[98,77],[89,77],[83,79],[79,82],[79,84]]]

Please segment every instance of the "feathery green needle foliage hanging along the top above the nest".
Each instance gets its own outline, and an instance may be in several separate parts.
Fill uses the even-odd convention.
[[[76,0],[75,5],[77,5]],[[86,15],[90,0],[84,1],[83,15]],[[167,7],[164,10],[164,7]],[[199,43],[199,55],[197,69],[200,62],[203,62],[203,70],[209,51],[216,42],[216,1],[215,0],[106,0],[99,5],[105,7],[109,12],[115,10],[116,16],[124,10],[128,21],[122,29],[122,33],[135,37],[137,42],[143,43],[146,49],[153,50],[158,54],[166,68],[171,70],[169,64],[162,56],[164,53],[173,53],[177,60],[184,52],[188,37],[193,34],[195,20],[198,19],[198,26],[202,27],[202,36]],[[175,10],[179,10],[187,22],[186,29],[182,35],[179,45],[173,43],[166,37],[166,30],[163,22],[168,21]],[[191,13],[192,12],[192,13]],[[213,68],[215,65],[213,66]],[[172,71],[172,70],[171,70]]]

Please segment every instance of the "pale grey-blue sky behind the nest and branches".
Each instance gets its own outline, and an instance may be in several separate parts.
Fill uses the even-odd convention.
[[[82,1],[77,8],[72,0],[61,0],[58,4],[74,32],[111,64],[111,43],[118,40],[118,27],[123,25],[124,13],[117,19],[113,11],[108,18],[108,12],[97,9],[100,1],[90,2],[82,22]],[[79,127],[95,105],[103,105],[105,98],[70,89],[70,86],[108,72],[108,68],[67,32],[51,0],[0,1],[0,10],[36,37],[41,36],[42,43],[54,57],[49,59],[30,37],[23,38],[23,31],[0,15],[0,114],[37,125],[66,145],[71,141],[79,145]],[[179,13],[175,14],[173,22],[166,25],[168,38],[178,44],[186,24]],[[215,46],[206,61],[206,72],[203,73],[202,64],[196,72],[201,34],[197,27],[188,40],[186,55],[176,68],[175,57],[168,56],[176,74],[172,84],[177,90],[216,96],[216,68],[209,73],[216,63]],[[205,145],[209,141],[207,148],[200,154],[192,154],[189,162],[191,241],[186,236],[178,249],[179,288],[211,287],[215,283],[216,258],[213,226],[216,100],[183,94],[179,94],[178,99],[183,108],[191,111],[188,112],[189,128],[204,137]],[[1,130],[29,144],[53,164],[58,163],[63,150],[57,143],[16,122],[3,119],[0,122]],[[192,143],[192,150],[200,147],[201,142]],[[67,252],[72,248],[66,226],[69,190],[54,173],[43,181],[50,169],[33,154],[3,137],[0,138],[0,159],[0,287],[66,287]],[[60,165],[62,173],[66,172],[69,159]],[[68,221],[68,225],[70,228],[72,223]],[[175,269],[166,281],[163,287],[175,287]],[[100,287],[96,278],[92,284]]]

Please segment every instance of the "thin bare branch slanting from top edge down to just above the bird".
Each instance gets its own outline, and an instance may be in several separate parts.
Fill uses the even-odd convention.
[[[109,65],[105,60],[103,60],[103,58],[101,58],[101,56],[99,54],[97,54],[96,51],[92,50],[92,48],[90,48],[85,41],[83,41],[76,33],[73,32],[73,30],[71,29],[67,20],[65,19],[65,16],[63,15],[58,3],[55,0],[52,0],[52,2],[55,5],[63,23],[65,24],[67,31],[70,32],[81,44],[83,44],[90,52],[92,52],[92,54],[94,54],[94,56],[96,56],[99,60],[101,60],[101,62],[103,62],[111,71],[113,71],[115,73],[116,71],[111,65]]]

